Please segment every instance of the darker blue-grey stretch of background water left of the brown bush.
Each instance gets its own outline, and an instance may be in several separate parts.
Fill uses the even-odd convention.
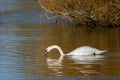
[[[35,0],[0,0],[1,24],[39,24],[55,23],[55,19],[48,19],[45,11]],[[64,22],[69,20],[63,19]]]

